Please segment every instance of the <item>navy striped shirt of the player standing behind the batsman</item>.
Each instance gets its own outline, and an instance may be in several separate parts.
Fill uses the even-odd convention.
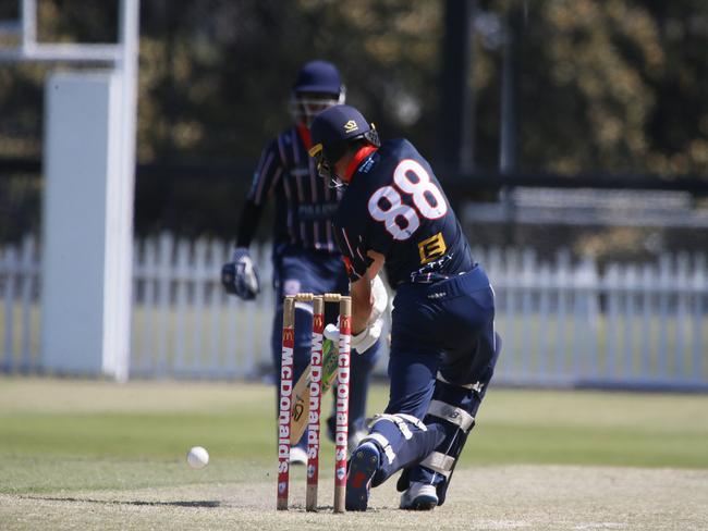
[[[331,219],[338,192],[317,175],[307,155],[309,132],[292,126],[264,149],[253,177],[248,199],[263,206],[276,199],[276,243],[339,254]]]

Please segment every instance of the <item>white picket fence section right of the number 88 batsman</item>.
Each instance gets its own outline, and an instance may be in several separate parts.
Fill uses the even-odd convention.
[[[541,386],[708,390],[705,255],[611,264],[567,252],[481,249],[497,294],[496,381]]]

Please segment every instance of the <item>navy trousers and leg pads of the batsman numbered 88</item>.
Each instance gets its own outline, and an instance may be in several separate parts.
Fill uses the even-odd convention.
[[[370,431],[384,450],[373,485],[406,468],[401,489],[411,480],[442,484],[438,490],[442,503],[451,472],[437,473],[420,461],[436,452],[454,464],[474,425],[500,349],[493,329],[495,294],[487,274],[476,266],[434,284],[399,286],[392,317],[388,417]],[[429,415],[431,402],[450,411],[462,409],[468,415],[456,415],[472,419],[472,425],[467,422],[465,431],[440,418],[439,411]],[[445,457],[448,464],[450,458]]]

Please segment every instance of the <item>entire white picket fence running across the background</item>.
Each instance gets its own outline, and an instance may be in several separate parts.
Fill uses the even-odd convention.
[[[269,246],[254,249],[264,292],[227,296],[224,242],[169,235],[135,247],[131,376],[264,378],[274,307]],[[708,391],[705,255],[612,264],[567,252],[475,249],[497,294],[498,384]],[[0,368],[42,372],[39,259],[33,239],[0,250]],[[81,288],[77,286],[77,289]],[[378,370],[384,374],[386,357]]]

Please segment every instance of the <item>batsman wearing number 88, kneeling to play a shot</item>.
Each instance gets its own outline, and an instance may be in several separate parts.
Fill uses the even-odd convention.
[[[352,453],[346,510],[366,510],[369,489],[401,469],[401,508],[430,510],[444,503],[499,356],[495,294],[411,143],[381,145],[343,104],[315,118],[312,139],[320,175],[345,186],[333,226],[351,282],[353,342],[373,330],[370,280],[381,268],[395,289],[389,404]]]

